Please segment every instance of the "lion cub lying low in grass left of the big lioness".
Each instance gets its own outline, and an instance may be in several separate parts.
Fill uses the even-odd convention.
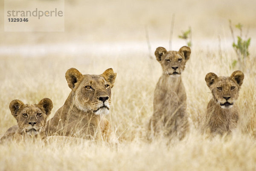
[[[46,121],[52,110],[52,101],[42,99],[38,104],[23,104],[20,100],[11,101],[9,108],[17,124],[9,128],[0,142],[14,140],[20,142],[31,138],[45,139]]]

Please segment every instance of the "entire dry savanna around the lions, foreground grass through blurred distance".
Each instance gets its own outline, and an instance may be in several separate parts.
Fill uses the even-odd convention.
[[[29,4],[29,1],[27,2]],[[65,72],[117,73],[112,107],[107,119],[119,141],[117,147],[92,142],[43,142],[0,145],[0,171],[169,171],[256,170],[256,2],[231,1],[65,1],[65,32],[4,32],[0,39],[0,136],[15,119],[9,103],[20,99],[53,101],[52,118],[70,93]],[[3,2],[1,3],[3,12]],[[182,73],[187,94],[190,133],[180,142],[145,134],[153,111],[154,88],[162,71],[154,58],[158,46],[169,49],[172,14],[175,25],[172,49],[186,45],[177,39],[192,28],[192,54]],[[242,23],[252,38],[244,67],[244,83],[236,103],[239,127],[230,137],[213,139],[201,134],[201,123],[211,93],[204,81],[208,72],[231,75],[236,53],[228,20]],[[1,17],[3,25],[3,17]],[[151,51],[145,38],[145,26]],[[239,34],[235,29],[235,34]],[[218,39],[218,37],[220,39]],[[149,58],[149,55],[153,59]]]

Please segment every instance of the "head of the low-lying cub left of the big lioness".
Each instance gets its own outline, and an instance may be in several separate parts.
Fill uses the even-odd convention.
[[[21,133],[26,135],[36,135],[45,131],[47,117],[52,107],[52,101],[48,98],[42,99],[38,104],[23,104],[20,100],[13,100],[9,105]]]

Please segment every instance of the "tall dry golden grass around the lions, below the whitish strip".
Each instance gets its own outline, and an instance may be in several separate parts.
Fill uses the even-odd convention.
[[[146,124],[152,115],[153,92],[161,75],[160,64],[146,51],[82,56],[0,58],[0,135],[16,121],[9,102],[20,99],[37,103],[52,99],[55,111],[70,89],[64,73],[70,67],[83,74],[101,74],[112,67],[117,72],[112,89],[111,113],[107,116],[118,137],[117,148],[89,142],[42,142],[0,145],[0,171],[6,170],[255,170],[256,169],[256,60],[253,54],[244,71],[238,101],[241,124],[230,138],[207,139],[200,125],[211,93],[204,81],[208,72],[230,75],[237,68],[232,49],[221,58],[217,52],[193,48],[182,74],[187,93],[191,131],[183,141],[145,140]],[[254,55],[255,56],[255,55]]]

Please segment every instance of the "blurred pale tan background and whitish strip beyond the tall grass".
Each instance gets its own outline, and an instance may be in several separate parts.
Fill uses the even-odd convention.
[[[32,1],[23,2],[26,4],[17,3],[17,6],[29,6]],[[152,51],[159,44],[168,48],[173,14],[172,49],[186,44],[178,35],[189,28],[194,47],[218,47],[219,38],[221,46],[230,46],[229,20],[233,26],[241,23],[244,36],[251,37],[251,45],[255,45],[255,0],[65,0],[64,4],[64,32],[4,32],[4,0],[1,0],[0,55],[15,52],[72,55],[92,48],[100,52],[117,49],[147,52],[147,37]],[[239,29],[234,32],[239,34]]]

